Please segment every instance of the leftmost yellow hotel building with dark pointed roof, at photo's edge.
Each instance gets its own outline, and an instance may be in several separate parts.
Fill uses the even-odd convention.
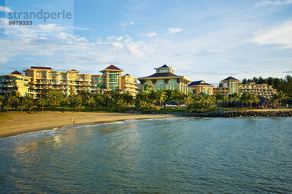
[[[31,95],[29,82],[31,77],[24,76],[18,71],[13,71],[7,75],[0,75],[0,95],[18,91],[21,96]]]

